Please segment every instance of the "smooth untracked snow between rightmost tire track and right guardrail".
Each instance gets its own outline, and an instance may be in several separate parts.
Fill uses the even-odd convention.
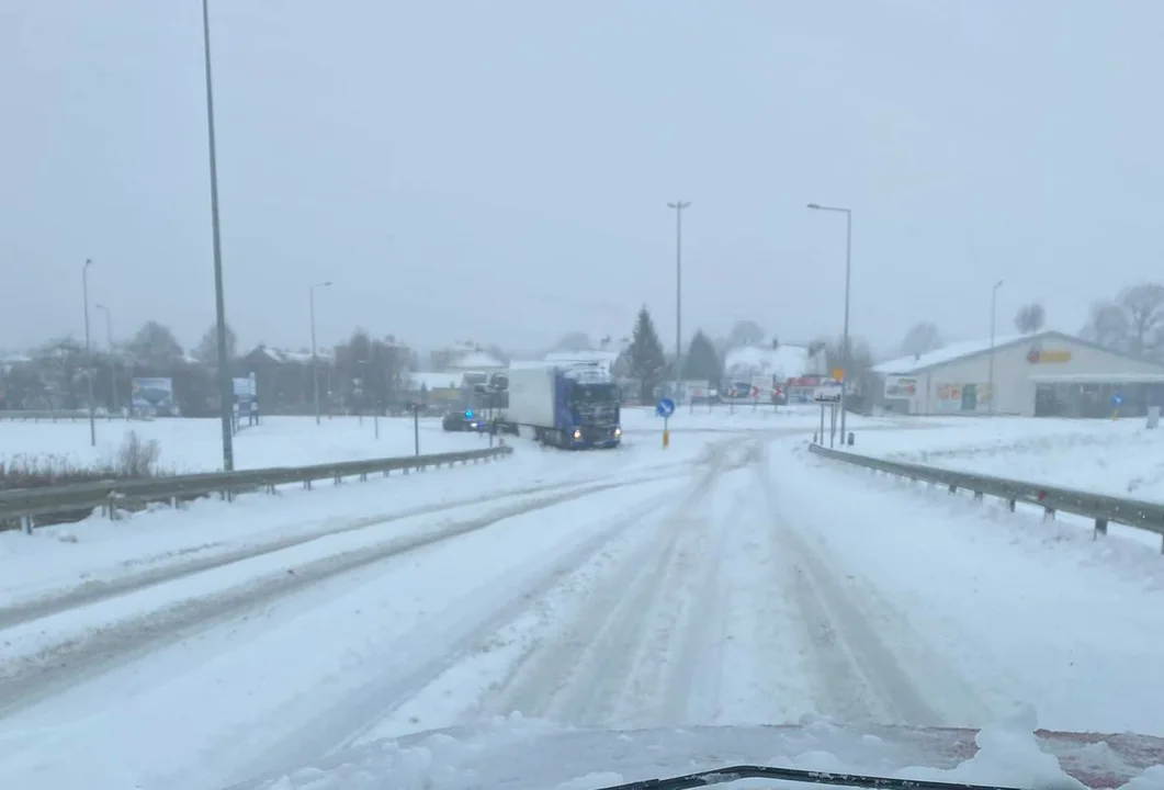
[[[873,626],[893,634],[899,657],[917,646],[911,679],[923,693],[957,692],[925,669],[949,666],[987,710],[1017,700],[1045,727],[1164,732],[1158,545],[1093,541],[998,500],[797,454],[802,465],[773,460],[781,507]]]

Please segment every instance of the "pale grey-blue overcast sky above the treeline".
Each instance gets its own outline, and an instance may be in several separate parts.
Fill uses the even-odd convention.
[[[242,346],[740,318],[893,349],[1164,279],[1164,2],[211,0]],[[214,320],[198,0],[0,0],[0,347]],[[100,316],[98,316],[100,318]],[[95,329],[97,327],[94,327]],[[104,341],[104,326],[98,335]]]

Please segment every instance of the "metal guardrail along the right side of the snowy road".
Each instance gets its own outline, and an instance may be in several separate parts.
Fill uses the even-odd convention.
[[[1027,503],[1043,508],[1045,519],[1053,519],[1057,511],[1083,515],[1095,521],[1094,535],[1106,535],[1110,522],[1124,524],[1137,529],[1145,529],[1164,535],[1164,504],[1124,499],[1103,493],[1060,489],[1027,481],[1013,481],[991,475],[927,467],[917,463],[874,458],[868,455],[831,450],[819,444],[811,444],[809,450],[836,461],[856,464],[874,471],[923,481],[931,485],[945,485],[950,493],[959,490],[970,491],[975,499],[985,494],[1007,500],[1012,511],[1017,503]],[[1164,540],[1161,543],[1164,554]]]

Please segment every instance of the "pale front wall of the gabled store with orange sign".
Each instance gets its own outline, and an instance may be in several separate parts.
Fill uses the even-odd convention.
[[[1042,361],[1031,363],[1028,354],[1034,346],[1044,353],[1067,351],[1065,362]],[[1035,383],[1031,376],[1071,375],[1136,375],[1162,373],[1164,365],[1140,362],[1116,354],[1074,342],[1064,337],[1041,337],[1030,343],[1018,343],[994,351],[994,386],[996,390],[994,411],[998,414],[1035,414]],[[966,384],[974,384],[978,393],[979,414],[989,412],[988,383],[991,380],[991,355],[957,360],[950,364],[918,373],[918,396],[910,403],[914,414],[966,414],[961,393]]]

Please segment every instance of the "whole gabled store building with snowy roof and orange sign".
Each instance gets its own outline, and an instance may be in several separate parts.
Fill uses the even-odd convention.
[[[1063,332],[996,337],[993,348],[952,343],[873,372],[881,383],[874,403],[909,414],[1135,417],[1164,405],[1164,364]]]

